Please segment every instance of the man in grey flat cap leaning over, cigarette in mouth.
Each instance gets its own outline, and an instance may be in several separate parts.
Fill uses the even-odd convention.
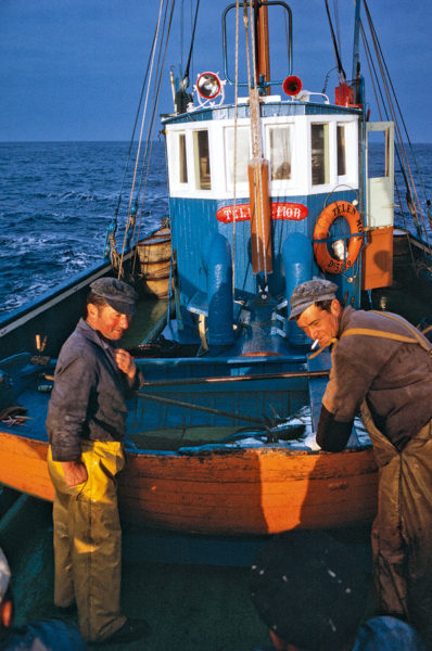
[[[317,443],[342,450],[360,410],[380,468],[378,612],[410,622],[432,647],[432,344],[398,315],[342,307],[336,291],[314,279],[290,299],[290,319],[331,347]]]

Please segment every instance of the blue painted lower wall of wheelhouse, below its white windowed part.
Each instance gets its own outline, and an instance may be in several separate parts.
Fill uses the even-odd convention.
[[[356,192],[350,189],[341,189],[333,192],[330,197],[327,194],[312,194],[308,196],[281,195],[272,199],[278,202],[301,203],[308,209],[308,217],[304,220],[275,219],[272,221],[274,273],[268,277],[268,291],[271,296],[279,299],[287,294],[283,260],[283,243],[287,238],[293,233],[297,233],[312,241],[316,221],[326,202],[352,202],[356,199]],[[181,316],[185,324],[189,326],[190,331],[195,329],[195,324],[188,314],[187,306],[198,292],[207,293],[207,273],[205,265],[202,263],[202,255],[198,255],[198,253],[206,251],[209,239],[214,238],[216,233],[224,235],[231,251],[236,251],[234,296],[253,298],[258,291],[258,281],[256,276],[252,273],[251,266],[250,221],[239,221],[236,225],[236,242],[233,242],[232,224],[224,224],[216,218],[217,210],[231,203],[228,200],[218,200],[217,197],[170,199],[171,238],[178,265],[178,281],[182,306]],[[249,199],[239,197],[238,203],[249,203]],[[346,220],[343,218],[336,219],[330,229],[330,237],[338,238],[347,234]],[[312,273],[314,276],[321,275],[316,263],[313,261],[312,265]],[[354,273],[357,273],[357,276],[353,282]],[[334,280],[340,286],[341,298],[346,295],[347,299],[353,299],[357,306],[359,305],[360,296],[359,279],[359,260],[354,269],[344,276],[331,277],[331,280]]]

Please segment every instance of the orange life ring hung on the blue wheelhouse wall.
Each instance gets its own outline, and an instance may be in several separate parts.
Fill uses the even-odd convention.
[[[338,260],[332,257],[327,247],[327,242],[314,242],[315,258],[322,269],[329,273],[341,273],[345,269],[350,269],[356,261],[361,250],[363,221],[357,208],[347,201],[335,201],[327,206],[320,214],[315,225],[314,240],[327,240],[329,237],[330,227],[338,217],[345,217],[350,225],[350,244],[344,260]]]

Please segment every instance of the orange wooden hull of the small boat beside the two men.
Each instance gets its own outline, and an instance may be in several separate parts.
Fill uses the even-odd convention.
[[[0,433],[0,476],[17,490],[53,499],[48,443]],[[377,467],[370,447],[338,454],[275,446],[127,454],[118,480],[124,522],[176,532],[276,534],[370,522]]]

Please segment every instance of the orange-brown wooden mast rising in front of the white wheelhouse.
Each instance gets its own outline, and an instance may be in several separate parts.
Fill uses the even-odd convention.
[[[244,0],[245,5],[245,0]],[[246,11],[246,8],[245,8]],[[272,272],[271,206],[269,196],[269,163],[263,156],[258,84],[269,79],[269,48],[267,7],[264,1],[254,2],[255,74],[250,88],[252,159],[249,162],[249,190],[251,205],[252,271]]]

